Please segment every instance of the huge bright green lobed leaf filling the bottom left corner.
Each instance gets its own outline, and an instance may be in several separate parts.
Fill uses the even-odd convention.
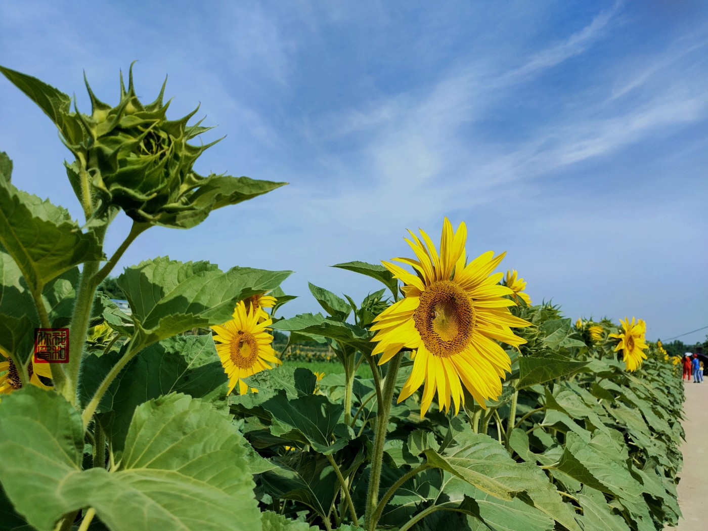
[[[83,452],[79,413],[59,394],[29,387],[3,399],[0,480],[38,530],[85,507],[113,531],[260,529],[244,440],[199,399],[139,406],[115,472],[81,471]]]

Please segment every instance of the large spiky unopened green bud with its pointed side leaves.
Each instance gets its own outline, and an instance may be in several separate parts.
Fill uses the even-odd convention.
[[[120,76],[120,101],[112,107],[91,90],[91,115],[70,112],[71,98],[32,76],[0,67],[0,72],[37,103],[57,125],[62,141],[76,160],[66,164],[67,175],[87,217],[110,216],[110,207],[125,211],[135,222],[189,228],[211,210],[249,200],[286,183],[193,170],[210,144],[188,144],[212,127],[201,120],[188,125],[198,108],[179,120],[168,120],[165,84],[152,103],[135,95],[132,65],[128,88]]]

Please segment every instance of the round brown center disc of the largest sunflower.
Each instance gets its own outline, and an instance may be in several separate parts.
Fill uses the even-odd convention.
[[[449,358],[462,352],[472,338],[472,300],[455,282],[433,282],[421,294],[413,323],[430,353]]]

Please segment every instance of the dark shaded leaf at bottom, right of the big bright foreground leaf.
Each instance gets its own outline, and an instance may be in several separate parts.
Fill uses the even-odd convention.
[[[273,457],[277,469],[261,475],[261,483],[273,498],[295,500],[327,518],[337,493],[338,479],[324,455],[297,452]]]

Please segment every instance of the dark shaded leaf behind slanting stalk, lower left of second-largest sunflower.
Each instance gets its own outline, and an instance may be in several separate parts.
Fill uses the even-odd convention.
[[[90,355],[81,364],[84,400],[122,353]],[[105,358],[105,360],[103,359]],[[94,387],[95,386],[95,387]],[[113,449],[120,452],[137,406],[172,392],[189,394],[226,408],[228,379],[211,336],[174,336],[142,350],[118,373],[103,395],[98,417]],[[108,412],[110,415],[106,415]]]

